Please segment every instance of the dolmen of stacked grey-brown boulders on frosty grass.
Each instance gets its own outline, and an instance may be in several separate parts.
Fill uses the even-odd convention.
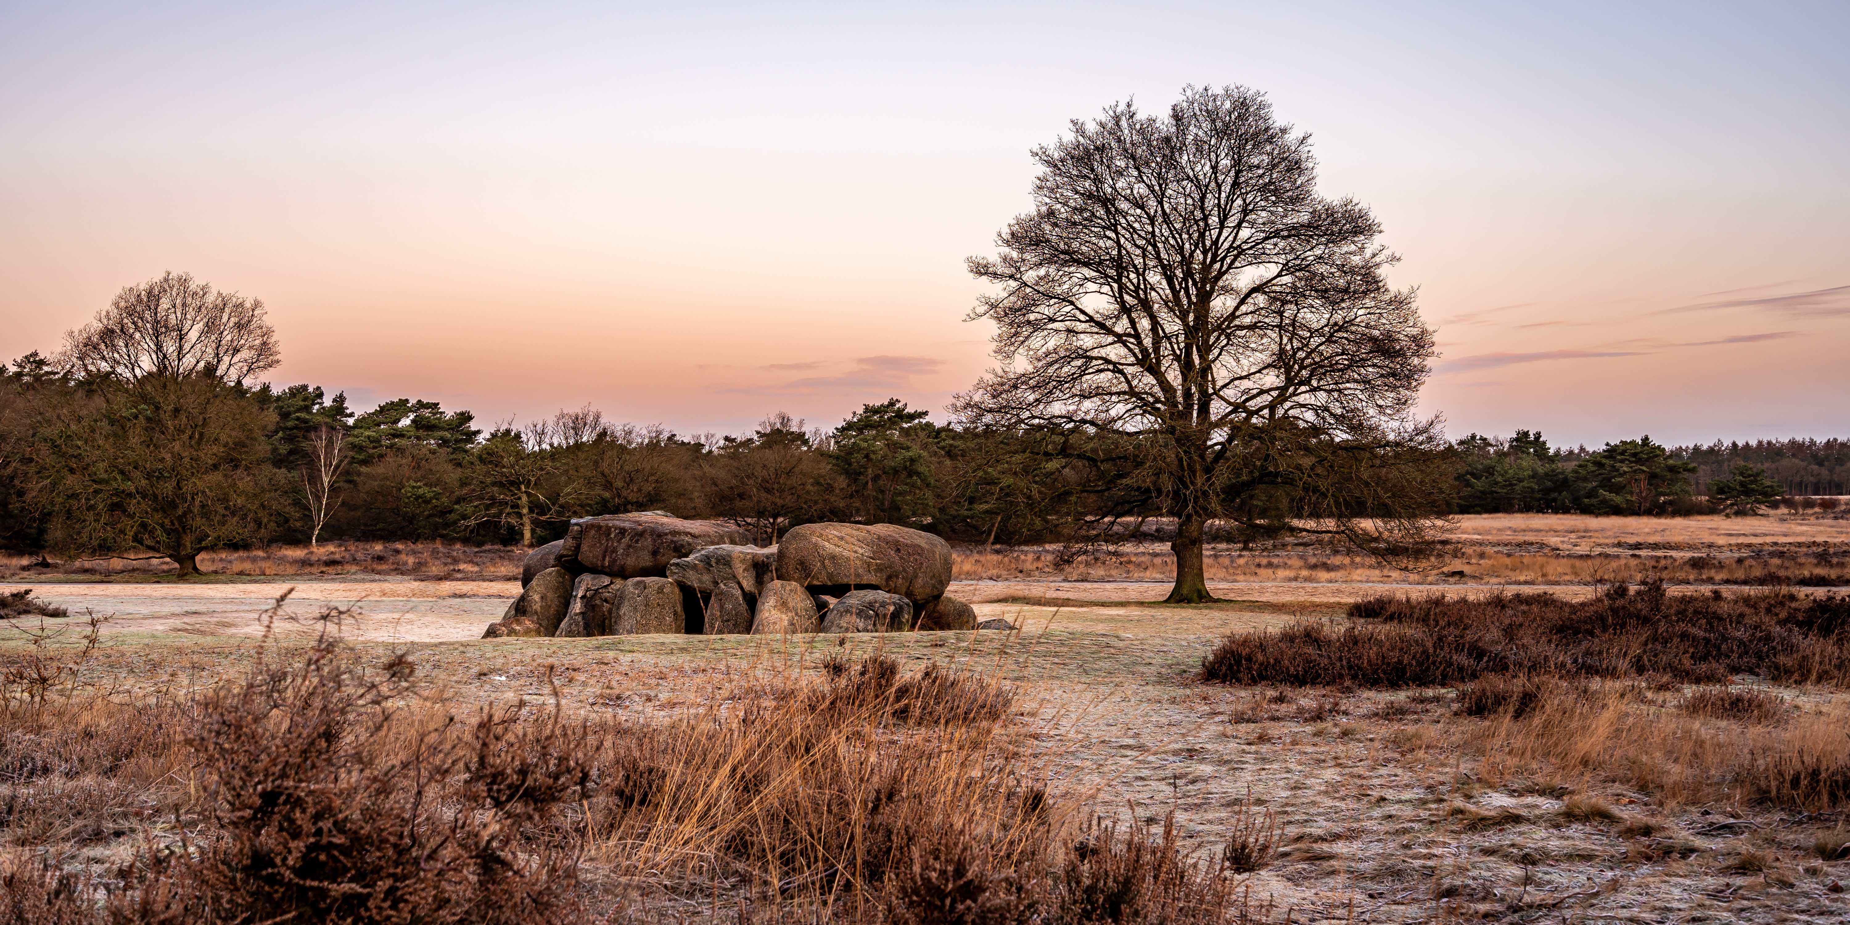
[[[666,511],[574,520],[533,549],[483,638],[979,629],[951,546],[892,524],[805,524],[777,546]]]

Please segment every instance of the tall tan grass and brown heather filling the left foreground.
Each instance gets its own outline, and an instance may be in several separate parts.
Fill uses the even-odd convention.
[[[57,690],[0,692],[0,921],[1230,921],[1276,838],[1103,825],[1014,688],[882,655],[640,722],[457,714],[326,636],[133,701],[59,651]]]

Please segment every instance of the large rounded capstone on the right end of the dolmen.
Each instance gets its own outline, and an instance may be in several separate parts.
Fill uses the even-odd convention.
[[[892,524],[805,524],[777,544],[777,577],[927,603],[951,585],[951,544]]]

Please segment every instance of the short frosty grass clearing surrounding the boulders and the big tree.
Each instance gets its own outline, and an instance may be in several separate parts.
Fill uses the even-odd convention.
[[[6,586],[13,590],[18,585]],[[881,649],[908,668],[962,662],[1019,683],[1025,734],[1047,749],[1058,792],[1106,816],[1160,821],[1212,845],[1240,803],[1273,808],[1280,860],[1251,897],[1284,921],[1430,921],[1460,910],[1523,919],[1843,921],[1850,862],[1813,857],[1839,814],[1676,807],[1563,773],[1482,786],[1458,746],[1449,690],[1284,690],[1201,684],[1202,655],[1230,629],[1347,620],[1382,592],[1486,594],[1489,586],[1219,585],[1227,603],[1151,605],[1154,583],[977,581],[953,594],[1019,633],[812,636],[605,636],[477,640],[518,594],[512,581],[48,583],[74,614],[113,616],[87,668],[120,696],[198,688],[239,670],[257,612],[294,588],[279,635],[313,635],[327,607],[340,633],[461,705],[524,699],[660,718],[690,710],[751,666]],[[1523,588],[1543,590],[1543,588]],[[1547,588],[1585,596],[1585,585]],[[54,620],[50,623],[72,623]],[[372,657],[372,655],[368,655]],[[1737,679],[1752,683],[1752,679]],[[1782,688],[1794,701],[1833,694]],[[1676,696],[1669,692],[1667,696]],[[1264,709],[1254,709],[1264,703]],[[1610,814],[1587,816],[1571,799]],[[1584,803],[1580,803],[1584,805]],[[1576,816],[1580,812],[1580,816]],[[1641,823],[1643,820],[1643,823]],[[1497,918],[1497,916],[1493,916]]]

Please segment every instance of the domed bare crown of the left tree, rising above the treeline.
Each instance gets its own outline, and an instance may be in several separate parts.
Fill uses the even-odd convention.
[[[83,376],[250,385],[281,363],[281,348],[261,300],[168,272],[117,292],[94,322],[65,335],[65,357]]]

